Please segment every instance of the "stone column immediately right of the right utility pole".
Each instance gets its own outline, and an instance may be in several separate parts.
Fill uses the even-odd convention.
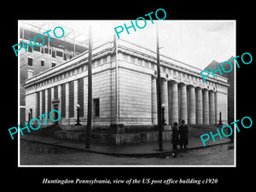
[[[168,81],[167,79],[161,79],[161,99],[162,104],[165,104],[166,125],[169,125],[169,107],[168,107]]]

